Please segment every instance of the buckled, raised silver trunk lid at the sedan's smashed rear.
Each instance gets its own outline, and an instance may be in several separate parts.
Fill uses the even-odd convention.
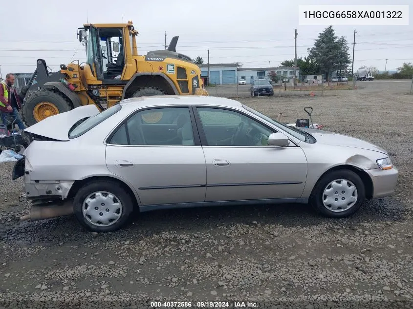
[[[79,106],[68,112],[47,117],[37,124],[33,124],[23,131],[48,137],[58,141],[68,141],[70,128],[77,121],[99,114],[100,111],[94,104]]]

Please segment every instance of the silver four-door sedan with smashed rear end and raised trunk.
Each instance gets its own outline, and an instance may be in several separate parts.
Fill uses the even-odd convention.
[[[24,177],[33,206],[22,220],[74,213],[96,232],[124,227],[133,210],[174,207],[310,203],[343,218],[391,195],[398,177],[376,145],[208,96],[85,105],[23,136],[12,178]]]

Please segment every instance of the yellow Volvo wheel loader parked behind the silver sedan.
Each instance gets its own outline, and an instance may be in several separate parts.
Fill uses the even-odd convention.
[[[38,59],[30,81],[22,88],[23,121],[30,126],[46,117],[95,104],[100,110],[120,100],[153,95],[208,95],[200,68],[176,52],[178,37],[166,50],[138,55],[132,21],[84,24],[78,39],[86,47],[86,63],[73,61],[48,71]]]

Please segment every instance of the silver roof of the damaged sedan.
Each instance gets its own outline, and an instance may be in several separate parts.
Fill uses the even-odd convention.
[[[154,107],[154,106],[174,106],[174,105],[213,105],[222,107],[240,108],[242,104],[238,101],[198,95],[164,95],[164,96],[147,96],[136,97],[122,100],[119,103],[121,106],[133,108],[135,104],[139,107]]]

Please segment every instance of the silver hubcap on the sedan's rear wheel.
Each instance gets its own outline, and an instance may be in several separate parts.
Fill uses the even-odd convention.
[[[85,219],[97,227],[109,227],[122,215],[122,203],[110,192],[93,192],[83,202]]]

